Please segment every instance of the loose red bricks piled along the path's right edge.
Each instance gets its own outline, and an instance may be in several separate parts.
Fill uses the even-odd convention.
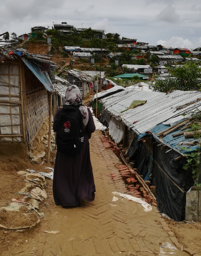
[[[102,137],[101,140],[106,149],[112,149],[114,153],[119,157],[120,149],[114,142],[109,140],[108,136]],[[119,169],[119,174],[121,175],[121,178],[125,181],[127,185],[127,194],[130,194],[133,197],[143,198],[144,201],[148,204],[152,206],[157,206],[156,200],[151,195],[147,194],[141,184],[138,184],[135,171],[130,171],[126,165],[117,165],[117,168]]]

